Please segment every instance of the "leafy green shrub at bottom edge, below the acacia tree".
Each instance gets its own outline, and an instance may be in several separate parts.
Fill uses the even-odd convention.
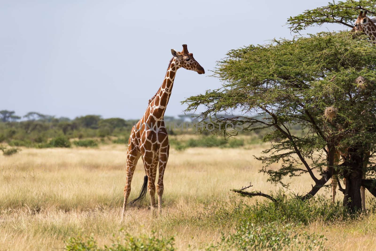
[[[296,233],[296,226],[275,223],[256,226],[249,221],[236,227],[236,232],[225,236],[221,242],[207,250],[326,250],[323,235]]]

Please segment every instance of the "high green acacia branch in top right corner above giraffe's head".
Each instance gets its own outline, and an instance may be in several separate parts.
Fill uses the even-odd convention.
[[[299,32],[308,26],[320,26],[324,23],[338,23],[352,28],[360,11],[375,14],[376,1],[329,2],[326,6],[306,10],[302,14],[288,18],[287,24],[290,25],[289,28],[292,32]]]

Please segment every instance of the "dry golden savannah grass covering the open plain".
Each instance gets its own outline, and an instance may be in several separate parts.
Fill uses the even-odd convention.
[[[241,198],[230,189],[249,182],[262,192],[278,189],[258,173],[261,163],[253,158],[266,147],[171,149],[162,214],[151,215],[147,196],[139,208],[127,209],[124,222],[120,211],[125,145],[22,148],[9,157],[0,155],[0,250],[63,250],[70,236],[91,234],[102,246],[120,229],[132,236],[152,231],[156,236],[175,236],[178,250],[205,249],[220,241],[221,233],[234,231],[240,220],[232,219],[237,203],[264,201]],[[143,176],[139,161],[131,199],[138,195]],[[307,176],[292,181],[287,193],[303,193],[312,184]],[[330,199],[330,189],[322,189],[321,194]],[[323,234],[330,250],[376,250],[376,214],[372,213],[338,222],[312,219],[294,231]]]

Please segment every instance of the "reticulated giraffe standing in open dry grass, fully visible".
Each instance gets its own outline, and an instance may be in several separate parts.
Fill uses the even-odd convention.
[[[123,220],[127,199],[130,193],[130,183],[139,157],[142,158],[146,175],[144,177],[143,189],[140,196],[133,200],[135,202],[144,198],[146,194],[146,183],[150,194],[150,204],[152,213],[155,210],[155,190],[158,194],[158,212],[162,211],[162,194],[163,194],[163,176],[166,168],[170,145],[168,143],[167,129],[164,124],[164,113],[171,96],[174,78],[177,69],[185,68],[187,70],[197,71],[204,74],[205,70],[193,58],[193,54],[188,52],[187,45],[183,44],[182,52],[171,49],[173,58],[168,64],[167,73],[164,81],[157,93],[149,100],[149,105],[143,117],[133,126],[127,149],[126,162],[126,185],[124,187],[124,204],[121,214]],[[155,187],[155,178],[159,165],[159,175],[157,186]]]

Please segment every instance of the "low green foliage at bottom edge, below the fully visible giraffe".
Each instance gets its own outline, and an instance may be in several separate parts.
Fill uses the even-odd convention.
[[[157,238],[155,233],[151,237],[146,235],[134,237],[130,234],[122,234],[123,238],[112,239],[111,246],[98,247],[93,236],[70,237],[65,245],[66,251],[174,251],[174,237]]]

